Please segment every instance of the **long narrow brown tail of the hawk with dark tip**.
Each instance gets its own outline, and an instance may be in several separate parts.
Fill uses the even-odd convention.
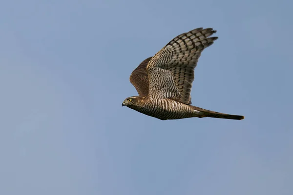
[[[206,110],[206,109],[203,109],[203,108],[199,108],[199,107],[196,107],[196,106],[190,106],[190,107],[193,110],[199,111],[199,112],[196,112],[194,117],[199,117],[199,118],[203,118],[203,117],[227,118],[227,119],[234,119],[234,120],[242,120],[242,119],[244,119],[243,116],[239,116],[239,115],[228,115],[228,114],[224,114],[224,113],[218,113],[218,112]]]

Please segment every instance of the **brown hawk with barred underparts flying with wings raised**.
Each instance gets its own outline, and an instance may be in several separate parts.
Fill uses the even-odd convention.
[[[196,28],[178,35],[153,57],[142,61],[130,75],[138,96],[126,98],[122,106],[161,120],[213,117],[241,120],[191,105],[194,69],[205,48],[218,37],[213,28]]]

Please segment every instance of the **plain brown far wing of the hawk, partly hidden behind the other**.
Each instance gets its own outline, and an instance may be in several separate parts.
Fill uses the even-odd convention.
[[[135,87],[138,95],[141,97],[147,96],[148,93],[148,75],[146,66],[152,57],[145,59],[140,65],[132,71],[130,75],[130,82]]]

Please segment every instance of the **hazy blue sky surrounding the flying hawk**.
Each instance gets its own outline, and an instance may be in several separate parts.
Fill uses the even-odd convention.
[[[1,195],[292,195],[289,0],[4,0]],[[219,37],[192,104],[241,121],[127,107],[133,69],[175,36]]]

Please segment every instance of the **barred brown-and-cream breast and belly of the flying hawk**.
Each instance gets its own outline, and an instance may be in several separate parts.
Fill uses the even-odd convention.
[[[194,110],[188,105],[168,98],[146,100],[142,111],[161,120],[194,117]]]

